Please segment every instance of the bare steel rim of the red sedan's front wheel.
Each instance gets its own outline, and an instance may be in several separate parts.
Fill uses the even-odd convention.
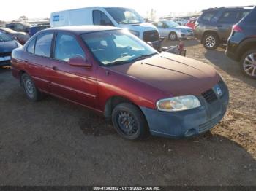
[[[133,114],[121,111],[117,114],[117,124],[122,133],[126,136],[133,136],[138,132],[138,124]]]

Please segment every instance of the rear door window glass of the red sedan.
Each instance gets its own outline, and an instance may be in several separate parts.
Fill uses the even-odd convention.
[[[53,39],[53,33],[39,34],[34,50],[35,55],[50,57],[50,46]]]

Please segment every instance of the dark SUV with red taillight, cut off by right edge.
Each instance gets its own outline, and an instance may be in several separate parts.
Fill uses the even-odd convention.
[[[233,26],[226,55],[240,62],[241,71],[256,79],[256,8]]]

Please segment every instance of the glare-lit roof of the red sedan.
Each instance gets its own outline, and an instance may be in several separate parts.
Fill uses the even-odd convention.
[[[44,31],[67,31],[74,34],[86,34],[97,31],[111,31],[111,30],[121,30],[121,28],[113,26],[61,26],[55,28],[48,28]]]

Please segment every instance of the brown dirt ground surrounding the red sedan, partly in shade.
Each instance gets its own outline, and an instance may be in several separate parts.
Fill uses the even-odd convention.
[[[256,81],[224,50],[186,44],[230,90],[224,120],[193,139],[126,141],[81,106],[27,101],[10,69],[0,69],[0,185],[256,185]]]

